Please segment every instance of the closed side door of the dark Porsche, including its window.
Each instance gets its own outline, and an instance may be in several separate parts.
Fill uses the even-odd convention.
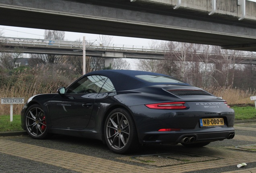
[[[95,99],[107,77],[92,75],[74,82],[65,94],[52,99],[49,108],[53,128],[85,129]]]

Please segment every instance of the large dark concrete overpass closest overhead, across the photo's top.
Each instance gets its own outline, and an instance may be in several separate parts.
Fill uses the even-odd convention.
[[[0,0],[0,25],[256,51],[249,0]]]

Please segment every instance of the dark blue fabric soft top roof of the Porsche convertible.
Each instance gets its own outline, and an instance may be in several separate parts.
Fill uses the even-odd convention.
[[[147,82],[140,78],[137,78],[136,75],[157,75],[157,76],[168,76],[165,74],[146,72],[146,71],[137,71],[137,70],[98,70],[85,74],[84,76],[90,75],[102,75],[106,76],[113,83],[116,91],[126,91],[132,89],[138,89],[142,87],[148,87],[158,84],[176,84],[177,83],[154,83]],[[171,76],[168,76],[171,77]],[[180,85],[188,85],[187,83],[179,83]]]

